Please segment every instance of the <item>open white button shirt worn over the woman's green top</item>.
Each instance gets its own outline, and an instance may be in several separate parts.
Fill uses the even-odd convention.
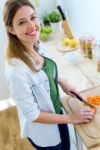
[[[42,45],[39,53],[50,58]],[[13,59],[12,63],[14,65],[6,64],[5,74],[11,96],[16,102],[21,137],[29,137],[41,147],[59,144],[61,139],[57,124],[34,122],[40,111],[55,113],[47,75],[42,70],[33,73],[19,59]]]

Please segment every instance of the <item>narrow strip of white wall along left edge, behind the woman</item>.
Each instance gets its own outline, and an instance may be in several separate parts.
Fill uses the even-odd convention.
[[[0,99],[9,97],[9,91],[4,76],[4,49],[6,46],[6,33],[2,21],[2,11],[5,0],[0,0]]]

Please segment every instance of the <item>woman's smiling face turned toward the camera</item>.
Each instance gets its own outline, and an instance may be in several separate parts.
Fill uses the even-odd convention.
[[[39,39],[40,23],[30,6],[23,6],[16,12],[9,32],[16,35],[23,44],[35,44]]]

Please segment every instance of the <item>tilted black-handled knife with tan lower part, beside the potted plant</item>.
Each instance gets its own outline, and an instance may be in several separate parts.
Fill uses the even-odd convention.
[[[62,20],[63,20],[63,28],[64,28],[65,34],[67,34],[67,36],[68,36],[69,39],[73,39],[74,36],[73,36],[73,34],[72,34],[72,31],[71,31],[71,29],[70,29],[69,23],[68,23],[68,21],[67,21],[67,19],[66,19],[66,17],[65,17],[65,14],[64,14],[64,12],[63,12],[61,6],[58,5],[58,6],[57,6],[57,9],[59,10],[59,12],[60,12],[60,14],[61,14],[61,17],[62,17]]]

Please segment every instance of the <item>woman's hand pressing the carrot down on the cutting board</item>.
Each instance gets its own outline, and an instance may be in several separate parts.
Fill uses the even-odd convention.
[[[69,123],[88,123],[94,116],[94,111],[91,109],[80,110],[68,115]]]

